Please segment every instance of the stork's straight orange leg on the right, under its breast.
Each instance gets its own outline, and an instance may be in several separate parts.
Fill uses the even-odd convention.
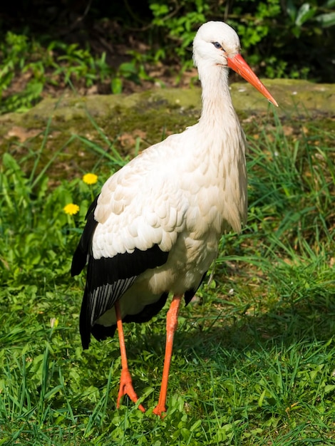
[[[162,378],[162,384],[160,386],[160,398],[158,400],[158,405],[156,405],[155,409],[153,410],[153,413],[159,416],[161,416],[163,412],[166,412],[165,402],[166,402],[166,393],[168,391],[168,379],[169,379],[170,363],[172,356],[173,336],[175,334],[175,331],[177,330],[178,311],[181,299],[182,296],[173,296],[168,314],[166,315],[166,345],[165,345],[163,378]]]

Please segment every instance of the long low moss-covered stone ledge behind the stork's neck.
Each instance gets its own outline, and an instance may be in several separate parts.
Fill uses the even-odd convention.
[[[286,120],[319,120],[320,125],[334,116],[335,85],[292,80],[265,80],[264,84],[279,108],[267,103],[247,83],[231,85],[234,107],[246,130],[250,116],[273,120],[273,113],[277,113]],[[200,110],[198,87],[156,88],[131,95],[46,98],[26,113],[0,117],[0,152],[11,152],[26,160],[27,171],[33,166],[33,154],[40,156],[41,165],[46,165],[56,152],[57,163],[51,167],[51,177],[73,177],[91,170],[96,162],[96,153],[86,150],[81,138],[96,142],[103,150],[109,150],[110,140],[121,155],[131,157],[136,146],[143,150],[195,124]]]

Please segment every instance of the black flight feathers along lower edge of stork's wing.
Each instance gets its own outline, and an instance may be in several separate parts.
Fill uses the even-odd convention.
[[[86,227],[73,254],[71,274],[80,274],[88,260],[86,286],[81,304],[80,331],[83,348],[88,348],[91,332],[96,338],[113,336],[115,327],[92,329],[100,316],[113,307],[115,302],[133,285],[137,276],[147,269],[165,264],[168,252],[162,251],[157,244],[141,251],[135,248],[132,253],[125,252],[113,257],[94,259],[91,255],[93,234],[98,222],[94,210],[98,197],[91,204],[86,215]],[[166,298],[165,298],[166,300]],[[163,302],[163,299],[162,299]],[[161,302],[160,302],[161,303]],[[156,308],[153,308],[153,311]],[[144,316],[144,315],[143,315]],[[98,328],[98,327],[97,327]],[[110,334],[107,334],[110,333]]]

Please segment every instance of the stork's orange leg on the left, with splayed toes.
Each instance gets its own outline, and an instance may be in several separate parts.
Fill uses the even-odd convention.
[[[128,361],[127,354],[125,353],[125,336],[123,335],[123,326],[122,326],[122,318],[120,313],[120,305],[118,302],[115,304],[115,314],[116,314],[116,325],[118,326],[118,338],[120,341],[120,353],[121,353],[121,377],[120,377],[120,388],[118,391],[118,400],[116,402],[116,407],[120,408],[120,399],[123,395],[128,395],[130,400],[133,403],[136,403],[138,400],[138,395],[136,395],[135,390],[133,388],[133,381],[131,380],[131,376],[128,370]],[[145,412],[145,408],[140,404],[138,408]]]

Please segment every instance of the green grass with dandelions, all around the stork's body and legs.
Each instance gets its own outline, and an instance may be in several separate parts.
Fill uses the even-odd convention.
[[[125,326],[145,414],[126,398],[115,409],[117,339],[81,349],[84,279],[68,271],[105,178],[50,190],[41,153],[26,155],[29,173],[4,155],[0,445],[335,445],[334,131],[290,118],[287,136],[272,121],[248,129],[247,227],[222,238],[211,280],[180,312],[163,420],[152,410],[166,308]],[[122,165],[113,145],[103,158],[78,138],[96,151],[96,172]],[[78,214],[63,212],[69,202]]]

